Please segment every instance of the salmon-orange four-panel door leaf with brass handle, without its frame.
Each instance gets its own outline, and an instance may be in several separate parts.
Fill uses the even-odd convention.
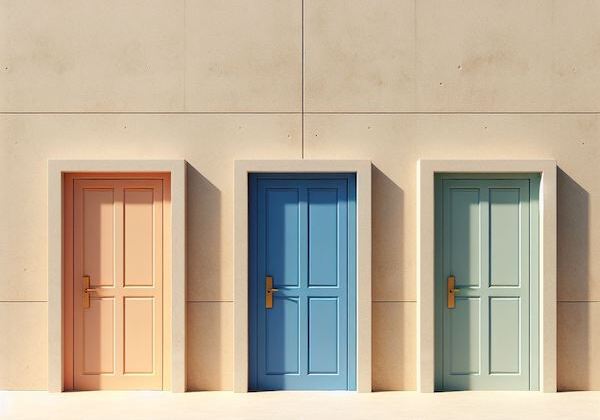
[[[72,185],[73,388],[162,389],[163,180]]]

